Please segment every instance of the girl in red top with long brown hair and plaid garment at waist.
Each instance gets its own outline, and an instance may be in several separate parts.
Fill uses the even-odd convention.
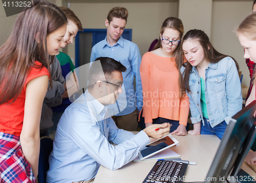
[[[66,28],[57,6],[34,1],[0,48],[0,182],[36,182],[49,59],[65,45]]]

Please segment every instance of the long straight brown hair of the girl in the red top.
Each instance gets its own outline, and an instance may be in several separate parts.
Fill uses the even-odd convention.
[[[46,66],[51,73],[49,59],[53,60],[53,56],[48,56],[46,38],[67,22],[65,14],[45,0],[34,1],[33,8],[18,15],[9,38],[0,48],[0,104],[17,99],[32,66]]]

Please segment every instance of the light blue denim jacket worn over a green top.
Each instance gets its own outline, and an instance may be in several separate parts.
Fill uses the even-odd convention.
[[[189,63],[187,63],[189,64]],[[181,73],[185,67],[182,66]],[[189,75],[189,107],[191,122],[203,122],[201,109],[201,83],[196,66],[192,67]],[[242,109],[241,82],[236,63],[230,57],[225,57],[218,63],[209,63],[205,70],[205,97],[208,118],[211,127],[215,127],[224,120],[229,120]]]

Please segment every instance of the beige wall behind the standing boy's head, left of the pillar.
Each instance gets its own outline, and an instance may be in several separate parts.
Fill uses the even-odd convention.
[[[141,55],[159,38],[165,18],[178,15],[178,3],[71,3],[70,9],[80,19],[83,29],[106,29],[106,16],[117,6],[129,12],[125,28],[133,30],[132,41],[138,45]],[[74,43],[68,47],[68,54],[74,58]]]

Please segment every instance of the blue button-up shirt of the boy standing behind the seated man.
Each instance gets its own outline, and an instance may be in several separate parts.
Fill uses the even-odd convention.
[[[120,36],[115,45],[104,40],[98,42],[92,48],[91,62],[98,57],[110,57],[120,61],[126,71],[123,75],[123,93],[119,95],[117,103],[108,106],[110,115],[123,116],[132,113],[136,107],[141,110],[143,105],[142,85],[140,79],[141,55],[137,44]],[[136,92],[134,89],[134,76],[136,78]],[[118,109],[119,108],[119,109]]]

